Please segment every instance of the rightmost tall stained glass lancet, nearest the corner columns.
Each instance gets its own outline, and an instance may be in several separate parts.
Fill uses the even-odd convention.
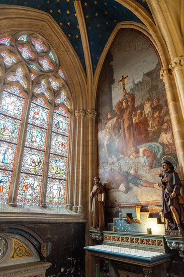
[[[69,117],[63,108],[54,112],[46,203],[64,206],[67,177]]]

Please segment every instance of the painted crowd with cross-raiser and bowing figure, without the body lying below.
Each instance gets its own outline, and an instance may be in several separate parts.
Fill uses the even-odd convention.
[[[142,156],[151,169],[164,154],[175,153],[168,108],[159,97],[146,98],[143,109],[136,109],[135,95],[125,91],[116,110],[98,124],[98,134],[99,157],[109,163]]]

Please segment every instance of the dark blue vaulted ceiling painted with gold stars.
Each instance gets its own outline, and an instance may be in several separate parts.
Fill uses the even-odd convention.
[[[128,3],[129,9],[116,0],[81,0],[94,72],[116,24],[122,21],[142,23],[131,11],[132,5],[141,5],[151,15],[146,0],[128,0]],[[80,30],[72,0],[1,0],[1,4],[30,7],[50,14],[65,33],[85,70]]]

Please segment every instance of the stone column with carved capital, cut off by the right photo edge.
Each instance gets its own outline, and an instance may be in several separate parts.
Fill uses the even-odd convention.
[[[172,74],[175,79],[178,95],[179,95],[179,102],[181,105],[181,112],[182,116],[184,115],[184,74],[183,74],[183,67],[184,58],[183,57],[176,57],[174,58],[171,63],[169,64],[169,68],[172,70]]]

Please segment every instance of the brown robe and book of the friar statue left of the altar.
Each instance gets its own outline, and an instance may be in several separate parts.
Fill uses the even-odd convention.
[[[105,188],[102,183],[95,184],[90,193],[90,197],[93,197],[92,203],[92,220],[93,227],[100,228],[105,226],[104,218],[104,197],[105,197]]]

